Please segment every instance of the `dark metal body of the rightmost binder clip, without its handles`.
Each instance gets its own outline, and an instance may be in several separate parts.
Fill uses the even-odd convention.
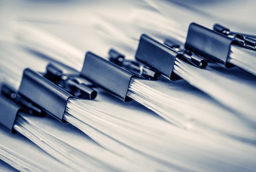
[[[229,68],[234,66],[227,62],[231,44],[243,46],[233,38],[196,23],[191,23],[188,28],[185,49]]]

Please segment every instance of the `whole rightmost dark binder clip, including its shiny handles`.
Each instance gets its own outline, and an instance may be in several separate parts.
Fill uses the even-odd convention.
[[[229,68],[234,66],[227,62],[232,44],[255,50],[256,37],[231,32],[228,28],[219,24],[214,25],[212,30],[196,23],[191,23],[188,28],[185,49]]]

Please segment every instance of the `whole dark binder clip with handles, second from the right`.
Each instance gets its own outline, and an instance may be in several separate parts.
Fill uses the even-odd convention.
[[[164,45],[150,38],[148,35],[141,35],[140,43],[135,55],[135,59],[150,67],[170,81],[182,79],[173,72],[176,58],[181,59],[199,68],[206,68],[207,61],[189,51],[182,50],[176,42]],[[178,50],[178,51],[177,51]]]

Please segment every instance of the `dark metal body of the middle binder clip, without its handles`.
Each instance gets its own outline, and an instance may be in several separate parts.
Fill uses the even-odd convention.
[[[126,68],[92,52],[85,54],[81,76],[125,102],[132,100],[126,96],[131,77],[138,77]]]

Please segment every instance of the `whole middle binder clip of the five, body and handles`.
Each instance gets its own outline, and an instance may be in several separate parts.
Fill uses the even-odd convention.
[[[81,76],[107,90],[115,97],[128,102],[126,96],[132,77],[157,80],[159,74],[147,66],[132,60],[126,60],[123,54],[111,49],[108,58],[87,52]]]

